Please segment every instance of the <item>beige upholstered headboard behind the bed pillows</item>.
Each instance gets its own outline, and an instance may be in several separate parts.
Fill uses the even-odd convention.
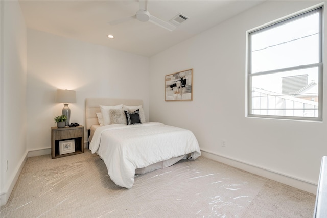
[[[119,105],[128,106],[143,105],[141,99],[110,99],[110,98],[86,98],[86,129],[90,129],[92,125],[99,124],[97,114],[101,112],[100,105]]]

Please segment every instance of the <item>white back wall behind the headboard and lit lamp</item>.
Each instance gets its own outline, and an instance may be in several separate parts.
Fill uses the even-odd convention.
[[[85,98],[142,99],[149,116],[149,58],[28,29],[27,148],[49,154],[56,89],[76,90],[71,122],[85,126]],[[105,37],[105,36],[104,36]],[[84,141],[87,142],[85,130]],[[44,150],[45,149],[45,150]],[[43,152],[41,152],[43,150]]]

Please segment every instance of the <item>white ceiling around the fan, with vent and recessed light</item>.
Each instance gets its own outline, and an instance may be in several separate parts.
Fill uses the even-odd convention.
[[[135,15],[137,0],[19,1],[28,28],[150,57],[263,0],[149,0],[151,15],[169,21],[178,13],[189,17],[174,31],[136,19],[118,25],[109,21]],[[112,34],[114,39],[108,39]]]

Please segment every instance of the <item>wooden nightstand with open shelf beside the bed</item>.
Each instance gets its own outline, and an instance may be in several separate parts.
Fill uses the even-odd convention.
[[[59,153],[60,141],[74,140],[75,152],[61,154]],[[84,127],[51,127],[51,157],[66,157],[74,154],[84,153]]]

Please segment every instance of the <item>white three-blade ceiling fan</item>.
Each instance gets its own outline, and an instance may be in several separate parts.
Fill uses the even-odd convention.
[[[109,22],[110,25],[117,25],[119,23],[123,23],[123,22],[126,22],[128,20],[136,18],[137,20],[142,21],[142,22],[150,21],[150,22],[154,23],[155,25],[157,25],[159,27],[162,27],[162,28],[165,28],[165,29],[167,29],[169,31],[175,30],[176,26],[172,25],[169,22],[161,20],[161,19],[159,19],[159,18],[157,18],[155,16],[152,16],[149,13],[149,11],[148,11],[148,0],[139,0],[138,4],[139,4],[139,10],[136,12],[136,14],[134,16],[110,21]]]

